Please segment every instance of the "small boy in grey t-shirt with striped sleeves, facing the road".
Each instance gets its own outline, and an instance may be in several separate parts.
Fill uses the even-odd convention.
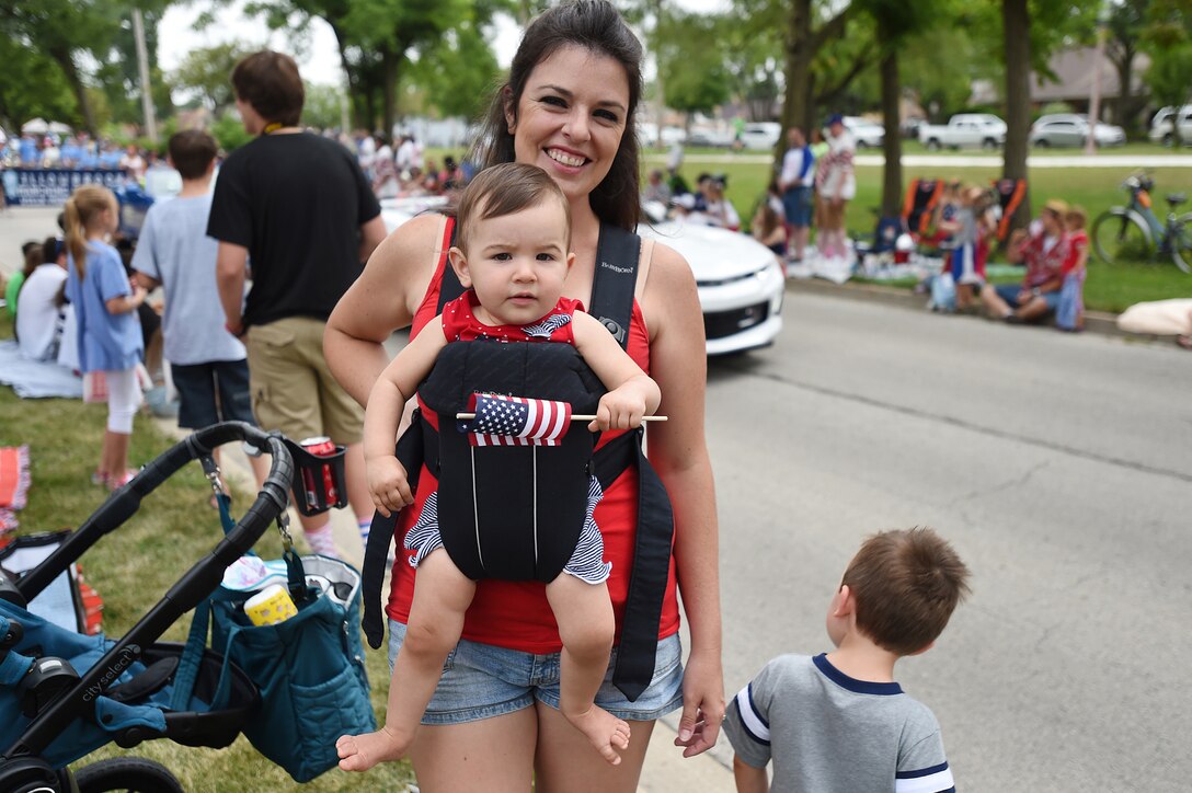
[[[952,791],[939,724],[894,682],[931,649],[969,591],[968,569],[930,528],[870,537],[827,613],[836,650],[771,661],[728,706],[737,789]]]

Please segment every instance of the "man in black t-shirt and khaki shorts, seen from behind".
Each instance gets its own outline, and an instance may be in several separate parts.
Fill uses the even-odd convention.
[[[298,126],[305,94],[293,58],[255,52],[231,80],[244,129],[257,137],[221,168],[207,221],[219,241],[228,330],[244,339],[261,427],[347,446],[348,501],[367,532],[364,410],[327,367],[323,327],[385,238],[380,205],[343,147]],[[242,309],[248,264],[253,283]],[[339,556],[328,515],[304,518],[303,529],[316,553]]]

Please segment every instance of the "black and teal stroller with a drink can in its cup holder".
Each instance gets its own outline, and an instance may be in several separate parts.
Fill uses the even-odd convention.
[[[211,451],[225,442],[246,441],[272,457],[269,475],[254,503],[226,535],[194,564],[169,591],[120,639],[72,634],[25,611],[25,605],[55,581],[100,537],[118,528],[156,489],[191,460],[203,460],[215,476]],[[99,791],[181,791],[178,780],[159,763],[119,757],[87,766],[73,775],[67,764],[114,742],[131,748],[143,741],[168,738],[190,746],[223,748],[236,739],[259,705],[253,681],[226,663],[231,693],[226,706],[210,704],[224,658],[203,652],[190,707],[172,708],[172,686],[184,645],[157,643],[180,617],[211,595],[224,570],[248,552],[275,521],[285,528],[291,487],[302,492],[294,459],[322,471],[313,458],[279,434],[249,425],[226,422],[200,429],[149,463],[129,484],[112,494],[44,562],[13,580],[0,570],[0,791],[5,793]],[[335,469],[342,482],[342,453]],[[309,477],[306,477],[309,478]],[[319,477],[321,479],[321,477]],[[340,492],[343,492],[341,487]],[[325,494],[309,509],[329,508]],[[67,636],[62,636],[67,634]],[[70,658],[73,661],[67,661]],[[77,670],[76,670],[77,668]],[[19,711],[19,712],[18,712]],[[12,736],[15,735],[15,741]]]

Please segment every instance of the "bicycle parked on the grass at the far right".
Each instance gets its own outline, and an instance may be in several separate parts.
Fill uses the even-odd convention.
[[[1093,249],[1107,265],[1120,261],[1159,261],[1171,256],[1177,267],[1192,272],[1192,212],[1177,215],[1186,193],[1169,193],[1167,223],[1150,209],[1155,181],[1147,174],[1130,175],[1122,187],[1130,193],[1129,206],[1111,206],[1093,222]]]

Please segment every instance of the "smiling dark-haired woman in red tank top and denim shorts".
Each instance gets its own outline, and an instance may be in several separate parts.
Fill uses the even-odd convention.
[[[716,741],[725,701],[716,508],[703,429],[703,321],[683,258],[632,234],[640,215],[638,142],[626,130],[634,129],[641,60],[640,43],[607,0],[552,7],[526,30],[509,80],[493,97],[477,157],[485,167],[538,166],[561,188],[575,254],[564,298],[591,305],[595,293],[607,301],[608,273],[627,274],[617,283],[628,289],[613,289],[622,295],[615,302],[625,322],[609,322],[629,357],[657,382],[658,410],[669,417],[648,429],[648,461],[637,436],[623,432],[602,433],[596,447],[603,456],[602,450],[623,444],[632,458],[614,469],[623,473],[609,482],[594,512],[603,559],[611,563],[608,590],[619,637],[616,662],[595,701],[629,724],[629,745],[611,766],[559,711],[563,640],[545,587],[484,580],[410,749],[428,793],[474,788],[477,779],[492,791],[631,793],[654,720],[681,705],[683,754],[700,754]],[[324,348],[335,376],[359,401],[367,401],[386,366],[381,345],[390,334],[412,323],[417,339],[436,316],[451,286],[445,273],[453,230],[452,218],[436,215],[402,224],[336,306]],[[610,244],[628,253],[613,256]],[[399,538],[434,487],[435,475],[423,465],[415,507],[398,518]],[[651,501],[662,489],[659,501]],[[639,495],[657,508],[639,510]],[[681,506],[673,522],[666,496]],[[642,556],[639,547],[653,550]],[[647,558],[657,563],[635,569],[635,559]],[[410,619],[414,577],[402,555],[386,609],[395,655]],[[691,634],[685,670],[679,587]],[[547,674],[541,675],[544,657]]]

